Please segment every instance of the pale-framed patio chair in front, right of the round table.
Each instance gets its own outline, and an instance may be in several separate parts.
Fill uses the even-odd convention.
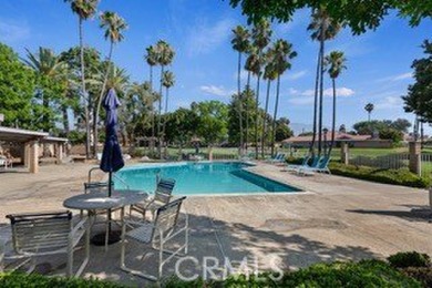
[[[133,227],[130,232],[126,232],[126,225],[122,227],[122,246],[120,267],[122,270],[136,275],[153,281],[160,281],[163,274],[163,266],[175,256],[184,256],[187,254],[188,246],[188,217],[185,215],[184,224],[179,225],[179,212],[182,203],[186,197],[175,199],[162,207],[156,212],[156,218],[153,223],[148,222],[126,222],[127,227]],[[176,250],[166,249],[166,244],[174,237],[184,234],[184,244],[182,244]],[[126,241],[134,240],[140,244],[150,245],[153,250],[158,251],[157,263],[157,276],[145,274],[144,271],[134,270],[125,265]],[[184,254],[181,251],[184,250]],[[134,255],[135,255],[134,250]],[[164,254],[168,256],[164,259]],[[142,256],[142,260],[146,254]]]

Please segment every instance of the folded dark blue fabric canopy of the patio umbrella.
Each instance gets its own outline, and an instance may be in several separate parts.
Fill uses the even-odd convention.
[[[103,107],[106,111],[105,120],[105,143],[103,146],[101,169],[103,172],[116,172],[124,166],[122,150],[119,144],[116,125],[117,107],[120,101],[114,89],[110,89],[103,101]],[[110,175],[111,176],[111,175]],[[111,185],[110,185],[111,186]]]

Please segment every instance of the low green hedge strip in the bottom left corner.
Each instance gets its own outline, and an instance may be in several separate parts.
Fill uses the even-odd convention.
[[[0,274],[0,287],[116,288],[126,286],[96,279],[47,277],[38,274],[4,272]]]

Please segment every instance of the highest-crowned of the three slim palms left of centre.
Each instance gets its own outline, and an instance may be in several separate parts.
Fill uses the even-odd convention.
[[[162,124],[162,117],[161,117],[161,113],[162,113],[162,94],[163,94],[163,75],[164,75],[164,71],[165,71],[165,66],[166,65],[169,65],[173,60],[174,60],[174,56],[175,56],[175,52],[173,50],[173,48],[165,41],[163,40],[160,40],[157,41],[156,43],[156,54],[157,54],[157,64],[161,65],[161,86],[160,86],[160,101],[158,101],[158,117],[157,117],[157,142],[158,142],[158,145],[157,145],[157,153],[158,153],[158,156],[162,157],[162,135],[161,135],[161,132],[162,132],[162,128],[161,128],[161,124]]]

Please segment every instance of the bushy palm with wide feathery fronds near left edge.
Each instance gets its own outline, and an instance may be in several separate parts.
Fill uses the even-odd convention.
[[[28,59],[23,59],[23,61],[34,71],[39,79],[38,90],[40,95],[42,95],[42,106],[44,109],[42,125],[44,130],[50,130],[53,126],[49,113],[52,96],[45,93],[44,83],[47,80],[60,82],[64,78],[63,75],[68,73],[68,65],[51,49],[40,47],[38,53],[31,53],[28,49],[25,51]]]

